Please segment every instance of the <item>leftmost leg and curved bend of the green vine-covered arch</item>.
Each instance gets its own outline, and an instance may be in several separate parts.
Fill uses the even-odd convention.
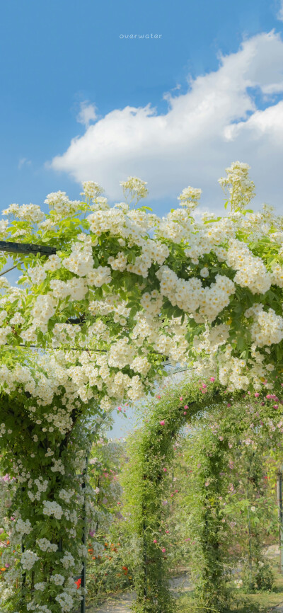
[[[166,551],[160,546],[163,476],[173,457],[179,430],[198,413],[222,401],[224,388],[214,382],[187,379],[168,386],[164,397],[155,399],[143,428],[133,435],[131,462],[125,473],[132,529],[139,537],[140,565],[137,571],[137,613],[171,613]],[[138,438],[137,438],[138,437]],[[134,492],[134,496],[131,493]],[[131,508],[132,500],[132,508]]]

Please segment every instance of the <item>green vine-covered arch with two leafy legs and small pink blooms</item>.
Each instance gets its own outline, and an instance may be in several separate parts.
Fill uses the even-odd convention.
[[[255,392],[251,397],[235,393],[228,395],[224,386],[219,386],[213,379],[190,377],[177,384],[171,383],[166,391],[161,391],[154,401],[149,402],[141,428],[129,440],[130,461],[124,475],[124,486],[130,529],[138,537],[137,600],[134,603],[137,613],[174,611],[168,581],[168,552],[162,542],[165,536],[163,505],[168,488],[164,477],[171,469],[175,439],[193,418],[197,418],[195,424],[200,425],[202,420],[207,424],[204,430],[200,428],[200,464],[197,464],[199,470],[196,473],[199,491],[197,555],[200,560],[195,573],[195,601],[197,610],[204,612],[207,609],[221,612],[227,607],[229,554],[225,543],[227,524],[223,524],[224,508],[220,501],[221,495],[225,495],[222,475],[231,447],[231,436],[234,441],[241,438],[244,432],[249,431],[250,424],[255,430],[262,428],[262,432],[258,432],[258,436],[262,434],[262,453],[268,447],[266,438],[273,437],[271,440],[274,444],[282,437],[283,411],[282,403],[275,394],[260,395]],[[220,430],[217,425],[214,431],[213,416],[220,420]],[[274,423],[278,427],[275,428]],[[255,452],[252,456],[255,456]],[[253,473],[256,471],[253,470],[252,460],[250,470]],[[253,474],[251,477],[254,479]],[[255,475],[256,483],[258,475]],[[255,560],[256,575],[262,565],[260,543],[255,543],[255,548],[258,557]]]

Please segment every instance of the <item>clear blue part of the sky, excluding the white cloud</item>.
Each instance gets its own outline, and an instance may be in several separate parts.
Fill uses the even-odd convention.
[[[2,207],[10,202],[41,204],[47,193],[58,189],[77,197],[80,176],[74,180],[76,161],[67,164],[67,170],[62,172],[48,168],[46,163],[54,156],[64,155],[71,139],[86,133],[87,127],[77,121],[81,103],[95,105],[98,122],[111,111],[122,110],[127,105],[144,108],[151,104],[158,115],[166,115],[168,102],[163,99],[164,93],[185,94],[189,77],[197,79],[217,71],[219,53],[229,57],[238,52],[243,40],[272,29],[281,33],[283,22],[277,18],[279,10],[277,0],[238,0],[236,3],[226,0],[176,0],[174,3],[168,0],[144,0],[142,3],[9,0],[2,3]],[[120,38],[130,33],[157,33],[162,38]],[[252,91],[258,108],[274,104],[276,96],[282,96],[275,92],[272,101],[266,101],[258,95],[257,86]],[[249,111],[244,110],[244,113]],[[133,137],[136,137],[135,128]],[[103,156],[105,160],[105,151]],[[119,197],[111,179],[108,181],[107,159],[106,151],[103,171],[100,167],[96,171],[94,159],[90,168],[86,168],[84,178],[97,180],[97,175],[98,179],[102,175],[110,197]],[[158,151],[154,159],[154,173],[158,177]],[[201,161],[202,156],[199,167]],[[219,161],[222,173],[231,161],[233,157],[230,159],[228,151],[224,166]],[[249,160],[242,158],[241,161]],[[168,164],[174,174],[179,164],[178,156],[174,161],[173,155]],[[109,175],[115,176],[116,185],[118,174],[122,180],[128,174],[145,173],[139,151],[135,171],[134,164],[127,163],[127,159],[118,169],[109,164]],[[167,166],[161,164],[160,173],[168,174]],[[147,176],[142,178],[146,180]],[[216,175],[213,179],[215,183],[217,178]],[[194,179],[200,183],[195,169],[190,172],[190,161],[187,173],[180,173],[180,188],[168,185],[160,189],[159,194],[157,179],[157,183],[151,179],[158,212],[168,209],[171,197],[178,195]],[[151,183],[149,181],[149,188]],[[221,202],[221,192],[218,193]]]

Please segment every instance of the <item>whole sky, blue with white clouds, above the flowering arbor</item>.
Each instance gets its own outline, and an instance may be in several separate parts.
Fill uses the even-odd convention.
[[[282,30],[280,0],[1,3],[2,208],[76,198],[81,180],[120,201],[134,174],[159,214],[187,185],[219,212],[217,178],[239,159],[255,208],[283,213]]]

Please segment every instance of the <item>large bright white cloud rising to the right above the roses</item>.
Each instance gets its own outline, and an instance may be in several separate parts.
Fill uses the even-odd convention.
[[[222,202],[216,180],[239,159],[252,166],[260,202],[279,206],[283,102],[272,96],[283,93],[282,67],[279,35],[256,35],[221,56],[219,69],[191,79],[187,93],[166,94],[163,115],[150,104],[112,110],[50,166],[78,182],[97,181],[113,199],[121,199],[119,182],[135,175],[148,181],[153,198],[176,197],[193,185],[202,188],[204,205],[215,207]]]

